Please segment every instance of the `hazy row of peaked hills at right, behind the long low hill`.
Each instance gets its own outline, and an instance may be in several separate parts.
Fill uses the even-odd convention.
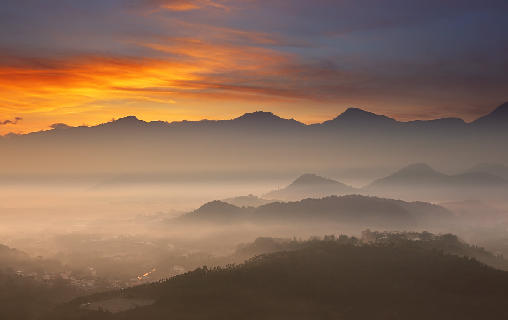
[[[427,199],[428,196],[444,197],[442,199],[453,199],[457,196],[503,197],[508,192],[508,180],[477,171],[484,167],[492,168],[480,164],[457,175],[446,175],[423,163],[412,164],[361,188],[354,188],[314,174],[304,174],[287,187],[270,191],[264,198],[301,200],[351,193],[413,199]],[[495,165],[494,168],[501,173],[504,169],[508,169],[502,165]]]

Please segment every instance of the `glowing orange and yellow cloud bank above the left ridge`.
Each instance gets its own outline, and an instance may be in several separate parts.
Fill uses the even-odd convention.
[[[0,59],[1,110],[8,117],[24,116],[26,129],[37,131],[47,126],[47,120],[30,125],[28,115],[50,114],[58,122],[79,125],[94,120],[76,119],[72,123],[58,117],[80,113],[98,116],[105,109],[140,104],[152,113],[164,113],[165,108],[167,111],[179,101],[193,99],[194,103],[252,97],[294,99],[284,89],[277,91],[254,83],[296,59],[291,54],[194,38],[165,38],[135,45],[151,50],[152,57],[88,54],[28,58],[4,54]],[[231,78],[233,73],[242,75],[243,80]],[[106,117],[111,116],[118,115]]]

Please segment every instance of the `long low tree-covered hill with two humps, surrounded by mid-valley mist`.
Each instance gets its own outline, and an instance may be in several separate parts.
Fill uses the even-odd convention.
[[[405,202],[395,199],[361,195],[308,198],[288,203],[274,202],[254,207],[237,207],[222,201],[212,201],[199,209],[174,219],[168,225],[224,225],[225,223],[347,223],[372,227],[405,228],[419,223],[434,225],[452,222],[453,213],[443,207],[425,202]]]

